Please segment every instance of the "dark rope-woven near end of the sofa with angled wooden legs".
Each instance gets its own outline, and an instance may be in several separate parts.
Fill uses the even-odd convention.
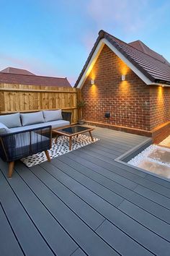
[[[50,161],[48,150],[52,142],[51,126],[12,132],[0,137],[0,157],[9,163],[8,177],[12,177],[14,161],[45,151]]]

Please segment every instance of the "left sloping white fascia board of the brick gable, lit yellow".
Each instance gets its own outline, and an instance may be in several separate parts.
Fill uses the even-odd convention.
[[[104,42],[103,40],[100,40],[76,88],[82,88],[82,86],[84,85],[84,82],[86,81],[86,78],[91,72],[91,69],[94,67],[94,64],[97,61],[97,58],[99,57],[99,54],[101,53],[103,46]]]

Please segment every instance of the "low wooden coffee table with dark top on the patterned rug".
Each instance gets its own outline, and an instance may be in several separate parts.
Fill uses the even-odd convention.
[[[92,130],[94,130],[94,128],[82,127],[81,125],[69,125],[68,127],[53,129],[53,133],[56,135],[55,143],[57,142],[58,137],[67,136],[69,137],[69,150],[71,150],[73,136],[78,137],[82,133],[89,132],[91,140],[94,141],[93,136],[91,135]]]

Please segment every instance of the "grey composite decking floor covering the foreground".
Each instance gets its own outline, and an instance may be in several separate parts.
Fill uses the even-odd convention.
[[[93,134],[12,179],[0,161],[0,255],[170,255],[170,182],[115,161],[146,137]]]

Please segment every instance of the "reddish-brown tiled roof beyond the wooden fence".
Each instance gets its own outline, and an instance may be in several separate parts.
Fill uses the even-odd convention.
[[[20,85],[45,85],[45,86],[57,86],[57,87],[71,87],[66,77],[44,77],[40,75],[35,75],[30,72],[30,74],[21,74],[29,72],[24,69],[7,68],[9,72],[0,72],[0,83],[6,84],[20,84]],[[14,71],[16,73],[11,73]],[[20,72],[20,73],[19,73]]]

